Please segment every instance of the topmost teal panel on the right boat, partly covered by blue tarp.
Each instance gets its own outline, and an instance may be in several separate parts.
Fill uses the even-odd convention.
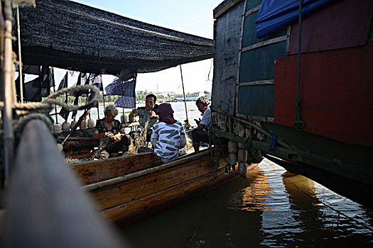
[[[258,16],[258,11],[252,13],[251,15],[245,18],[244,35],[242,37],[242,47],[247,47],[249,45],[260,43],[261,41],[264,41],[264,40],[270,40],[272,38],[283,36],[283,35],[286,35],[286,33],[288,33],[288,29],[283,28],[274,33],[271,33],[270,35],[264,36],[264,38],[257,39],[256,38],[256,27],[255,27],[256,16]]]

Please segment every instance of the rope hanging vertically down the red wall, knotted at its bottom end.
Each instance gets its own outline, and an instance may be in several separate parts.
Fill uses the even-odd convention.
[[[296,121],[293,125],[298,129],[306,126],[301,120],[301,49],[302,49],[302,2],[299,1],[299,16],[298,16],[298,79],[297,79],[297,96],[296,96]]]

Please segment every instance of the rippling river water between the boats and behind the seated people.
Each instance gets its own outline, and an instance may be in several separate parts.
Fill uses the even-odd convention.
[[[171,104],[183,121],[184,103]],[[195,125],[200,112],[194,102],[187,108]],[[134,247],[373,247],[372,219],[372,209],[264,159],[247,179],[124,227],[121,234]]]

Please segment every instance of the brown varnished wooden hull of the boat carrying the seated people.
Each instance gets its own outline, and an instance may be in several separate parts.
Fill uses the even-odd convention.
[[[227,154],[217,148],[163,164],[153,153],[71,164],[97,210],[126,224],[209,191],[238,176],[225,174]]]

